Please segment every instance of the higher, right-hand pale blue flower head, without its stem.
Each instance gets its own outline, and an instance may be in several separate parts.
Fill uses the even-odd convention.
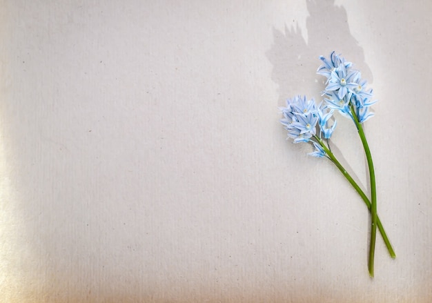
[[[323,64],[317,73],[327,78],[324,100],[328,107],[351,119],[357,118],[359,123],[373,117],[369,111],[369,107],[376,102],[371,100],[372,89],[366,89],[367,81],[352,68],[353,63],[335,52],[328,59],[324,56],[320,59]]]

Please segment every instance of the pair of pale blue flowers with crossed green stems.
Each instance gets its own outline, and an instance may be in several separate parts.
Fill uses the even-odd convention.
[[[334,51],[331,52],[328,58],[320,56],[320,59],[322,66],[318,68],[317,73],[327,78],[326,88],[323,92],[324,100],[316,105],[313,99],[307,100],[306,97],[302,96],[288,99],[286,107],[280,108],[283,115],[281,123],[288,131],[288,137],[291,137],[294,143],[302,142],[313,145],[314,151],[308,155],[330,159],[357,193],[359,193],[371,211],[371,242],[369,246],[368,267],[369,274],[373,277],[377,227],[391,257],[395,257],[393,247],[384,231],[380,218],[377,216],[375,170],[373,168],[371,151],[362,127],[364,121],[373,117],[370,107],[375,104],[375,101],[372,100],[372,90],[366,88],[367,82],[362,79],[360,71],[353,69],[353,63],[346,61]],[[333,117],[335,111],[352,119],[357,128],[369,167],[371,199],[367,197],[331,152],[328,139],[331,138],[337,125]]]

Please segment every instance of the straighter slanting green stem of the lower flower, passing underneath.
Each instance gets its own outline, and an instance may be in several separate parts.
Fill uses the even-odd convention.
[[[340,162],[337,161],[335,155],[333,155],[331,150],[328,149],[328,147],[324,144],[324,142],[317,136],[315,136],[315,139],[317,140],[318,144],[320,144],[320,146],[326,152],[328,159],[330,159],[331,162],[333,162],[333,164],[335,164],[335,166],[337,168],[339,168],[342,175],[344,175],[344,177],[353,186],[353,188],[357,191],[357,193],[360,195],[360,197],[362,197],[364,204],[366,204],[369,211],[371,211],[371,202],[369,201],[369,198],[366,196],[366,194],[364,193],[362,188],[360,188],[360,186],[358,186],[357,182],[355,182],[354,179],[351,177],[351,175],[349,175],[349,173],[346,171],[344,166],[342,166],[342,164],[340,164]],[[389,251],[389,254],[394,259],[396,257],[395,251],[393,250],[393,247],[391,246],[391,243],[389,241],[389,237],[387,237],[386,231],[384,230],[384,226],[382,226],[380,217],[378,217],[378,216],[377,216],[377,226],[378,226],[378,229],[380,230],[380,233],[382,235],[382,239],[384,240],[384,243],[386,244],[386,247],[387,247],[387,250]]]

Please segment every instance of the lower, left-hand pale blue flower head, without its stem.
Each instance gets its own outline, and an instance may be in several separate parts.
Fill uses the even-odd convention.
[[[288,130],[288,137],[293,138],[294,143],[311,142],[315,151],[308,155],[324,157],[326,153],[312,138],[317,138],[317,133],[319,138],[329,139],[331,137],[336,127],[336,121],[333,121],[331,127],[328,127],[328,124],[334,110],[328,108],[323,102],[317,106],[313,99],[307,100],[306,97],[302,96],[288,99],[286,107],[280,109],[284,115],[281,123]]]

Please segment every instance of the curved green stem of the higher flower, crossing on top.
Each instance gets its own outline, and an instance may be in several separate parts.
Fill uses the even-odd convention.
[[[366,159],[369,167],[369,177],[371,181],[371,245],[369,246],[369,275],[373,277],[373,261],[375,257],[375,239],[377,235],[377,190],[375,186],[375,170],[373,168],[371,150],[369,149],[368,141],[364,135],[362,124],[357,119],[353,105],[351,104],[351,115],[353,115],[353,120],[355,126],[357,126],[360,139],[362,140],[364,153],[366,154]]]

